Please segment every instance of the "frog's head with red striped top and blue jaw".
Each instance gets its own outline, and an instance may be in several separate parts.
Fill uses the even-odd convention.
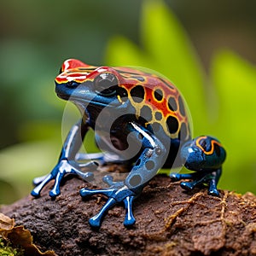
[[[90,66],[82,61],[64,61],[55,79],[55,92],[64,100],[86,109],[118,107],[125,91],[119,86],[122,77],[112,67]]]

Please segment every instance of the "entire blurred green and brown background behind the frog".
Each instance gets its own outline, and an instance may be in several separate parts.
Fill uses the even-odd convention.
[[[68,58],[163,73],[185,96],[195,136],[227,149],[219,188],[256,193],[255,8],[253,0],[2,1],[0,203],[27,195],[32,178],[55,166],[79,118],[54,92]]]

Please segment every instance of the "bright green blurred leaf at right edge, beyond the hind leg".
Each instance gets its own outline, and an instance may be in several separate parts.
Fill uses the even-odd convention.
[[[225,185],[240,192],[255,191],[256,68],[224,50],[212,61],[212,81],[219,99],[215,135],[228,152]]]

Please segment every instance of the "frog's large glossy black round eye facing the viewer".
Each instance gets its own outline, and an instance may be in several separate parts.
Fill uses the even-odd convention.
[[[112,96],[118,88],[118,79],[113,73],[101,73],[94,80],[97,93],[104,96]]]

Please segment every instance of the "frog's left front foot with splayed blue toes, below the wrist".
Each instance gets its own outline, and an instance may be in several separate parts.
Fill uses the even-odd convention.
[[[90,171],[94,171],[97,168],[96,162],[89,162],[86,164],[78,164],[73,160],[60,160],[59,163],[55,166],[55,168],[48,175],[43,177],[36,177],[33,180],[33,183],[36,185],[34,189],[32,189],[31,195],[38,197],[40,196],[41,190],[44,186],[49,183],[51,180],[55,180],[55,184],[53,189],[49,191],[49,196],[55,198],[57,195],[61,194],[61,180],[67,174],[76,174],[79,177],[82,177],[85,181],[89,182],[94,177],[92,172],[81,172],[80,168],[88,169]]]

